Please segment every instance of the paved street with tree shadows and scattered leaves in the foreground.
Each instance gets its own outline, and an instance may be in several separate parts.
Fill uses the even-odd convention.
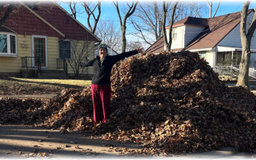
[[[108,140],[93,140],[89,135],[77,133],[62,134],[29,125],[0,125],[0,159],[10,158],[154,158],[154,159],[252,159],[255,155],[237,153],[232,148],[196,154],[182,154],[168,157],[127,156],[122,148],[141,148],[134,143]]]

